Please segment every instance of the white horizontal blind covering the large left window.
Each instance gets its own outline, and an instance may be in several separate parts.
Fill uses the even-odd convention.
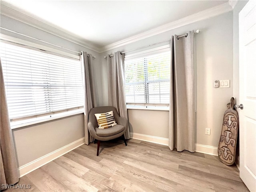
[[[1,42],[10,120],[83,107],[79,60]]]

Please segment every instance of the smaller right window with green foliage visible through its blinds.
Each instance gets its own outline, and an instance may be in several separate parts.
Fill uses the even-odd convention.
[[[169,48],[170,50],[170,48]],[[129,106],[168,106],[170,102],[170,51],[125,58],[126,102]]]

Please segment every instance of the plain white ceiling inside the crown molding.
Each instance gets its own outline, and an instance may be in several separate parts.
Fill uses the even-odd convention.
[[[228,0],[2,0],[1,4],[102,48]]]

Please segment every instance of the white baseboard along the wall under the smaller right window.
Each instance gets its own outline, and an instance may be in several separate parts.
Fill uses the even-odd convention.
[[[166,146],[168,146],[168,141],[169,141],[168,138],[162,138],[162,137],[156,137],[156,136],[144,135],[144,134],[132,133],[132,132],[130,132],[130,137],[133,139],[138,139],[138,140],[147,141],[151,143],[157,143],[157,144],[166,145]],[[209,146],[209,145],[195,144],[195,151],[204,153],[204,154],[218,156],[218,148]]]

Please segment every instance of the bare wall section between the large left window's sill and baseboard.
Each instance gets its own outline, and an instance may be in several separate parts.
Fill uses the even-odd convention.
[[[18,166],[84,137],[84,114],[12,130]]]

